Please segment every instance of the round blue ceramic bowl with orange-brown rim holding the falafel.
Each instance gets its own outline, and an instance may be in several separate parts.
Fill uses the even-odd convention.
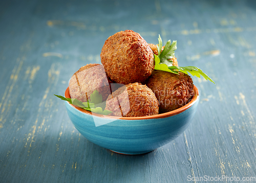
[[[199,91],[185,106],[148,117],[112,117],[75,107],[65,102],[75,128],[89,141],[122,154],[153,151],[184,132],[193,119],[199,103]],[[65,97],[70,98],[69,88]]]

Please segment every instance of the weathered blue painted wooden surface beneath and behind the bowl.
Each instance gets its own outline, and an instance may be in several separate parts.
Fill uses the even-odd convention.
[[[179,65],[216,82],[193,77],[201,101],[188,129],[134,156],[83,138],[53,96],[81,66],[100,63],[105,39],[126,29],[149,43],[158,34],[177,40]],[[0,182],[256,177],[255,33],[255,1],[1,1]]]

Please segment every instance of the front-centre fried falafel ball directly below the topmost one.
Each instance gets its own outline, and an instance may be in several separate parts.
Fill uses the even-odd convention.
[[[157,115],[159,103],[153,91],[141,83],[130,83],[118,88],[106,100],[111,116],[141,117]]]

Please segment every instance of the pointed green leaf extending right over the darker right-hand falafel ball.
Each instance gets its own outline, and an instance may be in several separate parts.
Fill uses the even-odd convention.
[[[200,78],[200,75],[203,76],[206,80],[209,80],[211,82],[213,82],[215,84],[215,82],[209,77],[207,76],[205,73],[203,73],[203,71],[195,66],[185,66],[185,67],[180,67],[180,66],[169,66],[168,67],[169,70],[179,70],[182,73],[187,74],[190,73],[192,76],[196,76],[198,78]]]

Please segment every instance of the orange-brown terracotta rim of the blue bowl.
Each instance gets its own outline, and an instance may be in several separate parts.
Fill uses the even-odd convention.
[[[148,120],[148,119],[158,119],[158,118],[167,118],[167,117],[171,117],[171,116],[175,116],[178,115],[179,113],[187,110],[189,107],[191,107],[192,105],[194,105],[198,100],[199,100],[199,90],[198,88],[194,85],[193,87],[193,91],[194,91],[194,95],[192,97],[192,99],[184,106],[169,111],[169,112],[165,112],[165,113],[160,113],[158,115],[152,115],[152,116],[143,116],[143,117],[116,117],[116,116],[106,116],[106,115],[100,115],[98,113],[94,113],[91,112],[89,110],[80,108],[80,107],[76,107],[73,104],[70,104],[69,102],[67,102],[69,105],[71,105],[72,107],[74,107],[75,109],[79,110],[82,113],[86,113],[87,115],[91,115],[91,116],[97,116],[100,118],[105,118],[105,119],[115,119],[115,120]],[[65,97],[66,98],[70,98],[70,93],[69,93],[69,86],[67,87],[66,91],[65,91]]]

